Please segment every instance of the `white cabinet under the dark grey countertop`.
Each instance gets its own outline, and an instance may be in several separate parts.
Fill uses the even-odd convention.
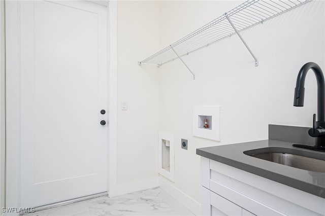
[[[201,157],[202,215],[325,215],[325,199]]]

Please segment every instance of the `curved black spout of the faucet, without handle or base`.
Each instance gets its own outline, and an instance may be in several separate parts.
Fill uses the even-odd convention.
[[[305,95],[305,79],[309,69],[312,69],[315,73],[317,80],[317,122],[325,122],[325,82],[323,73],[314,62],[308,62],[302,66],[297,77],[297,83],[295,88],[294,106],[304,105]]]

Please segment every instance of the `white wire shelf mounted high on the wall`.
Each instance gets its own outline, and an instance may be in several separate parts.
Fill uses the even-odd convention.
[[[236,28],[244,30],[310,1],[248,0],[138,63],[160,66],[229,37],[236,33]]]

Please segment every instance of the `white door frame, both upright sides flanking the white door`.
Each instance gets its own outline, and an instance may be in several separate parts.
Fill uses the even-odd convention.
[[[117,2],[107,6],[109,73],[108,190],[116,194]],[[6,1],[6,207],[20,206],[20,1]],[[17,213],[18,215],[18,213]]]

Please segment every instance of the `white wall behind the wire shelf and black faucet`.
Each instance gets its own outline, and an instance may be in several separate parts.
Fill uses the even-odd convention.
[[[241,3],[161,2],[160,48]],[[304,63],[314,61],[325,71],[324,5],[312,1],[243,31],[258,67],[237,35],[184,57],[196,80],[179,60],[159,67],[159,131],[174,134],[175,187],[200,202],[197,148],[267,139],[268,124],[312,126],[313,73],[306,78],[305,106],[294,107],[293,98]],[[192,136],[194,105],[221,105],[220,141]],[[187,151],[181,138],[188,139]]]

